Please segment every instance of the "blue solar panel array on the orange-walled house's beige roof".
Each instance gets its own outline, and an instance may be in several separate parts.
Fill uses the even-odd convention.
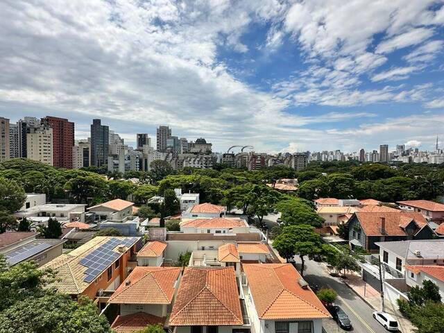
[[[88,283],[94,281],[97,276],[105,271],[105,268],[108,268],[120,257],[120,253],[113,251],[116,246],[124,245],[130,247],[135,244],[136,241],[137,237],[129,237],[126,239],[112,238],[81,259],[79,264],[87,267],[85,271],[86,276],[83,278],[83,281]]]

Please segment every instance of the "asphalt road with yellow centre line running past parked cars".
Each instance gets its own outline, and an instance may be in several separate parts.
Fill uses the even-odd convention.
[[[298,257],[295,258],[298,262]],[[309,284],[318,284],[319,287],[329,287],[338,293],[336,304],[339,305],[350,318],[353,331],[357,333],[386,333],[372,316],[373,308],[359,298],[349,287],[338,278],[333,278],[325,271],[325,265],[313,260],[305,261],[304,278]],[[327,327],[325,327],[327,329]],[[342,332],[333,330],[330,332]],[[330,333],[327,330],[327,333]]]

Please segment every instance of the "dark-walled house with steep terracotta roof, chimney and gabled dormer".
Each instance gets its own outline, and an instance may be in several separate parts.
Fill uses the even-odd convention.
[[[434,231],[415,212],[356,212],[348,221],[350,246],[377,252],[379,241],[432,239]]]

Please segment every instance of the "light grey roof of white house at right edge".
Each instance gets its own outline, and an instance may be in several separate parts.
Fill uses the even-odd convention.
[[[379,241],[375,244],[407,259],[417,259],[418,256],[415,255],[416,250],[419,250],[421,253],[419,258],[444,258],[444,239]]]

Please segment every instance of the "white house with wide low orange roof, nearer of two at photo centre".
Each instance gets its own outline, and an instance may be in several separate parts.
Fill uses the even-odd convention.
[[[185,220],[180,223],[180,231],[185,234],[237,234],[248,233],[250,227],[244,219],[214,217]]]

